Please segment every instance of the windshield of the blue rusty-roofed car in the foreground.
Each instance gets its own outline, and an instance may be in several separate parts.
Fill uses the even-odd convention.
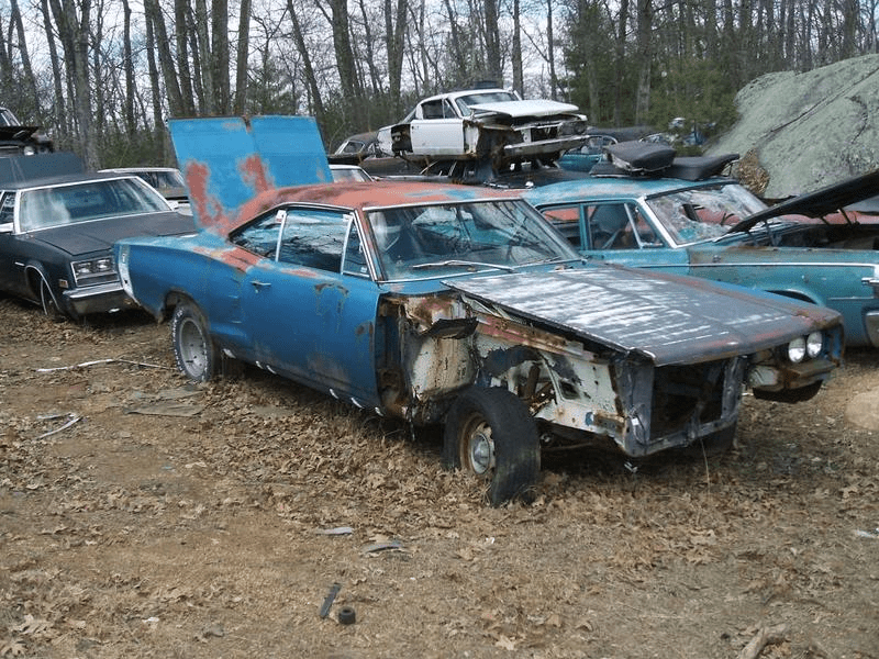
[[[518,200],[401,206],[367,213],[386,279],[510,270],[576,260],[576,252]]]

